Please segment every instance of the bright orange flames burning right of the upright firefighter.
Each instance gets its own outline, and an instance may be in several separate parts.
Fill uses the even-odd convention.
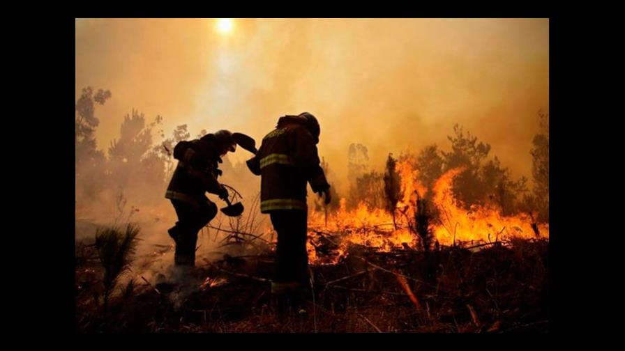
[[[312,210],[309,214],[310,263],[336,263],[353,244],[377,251],[418,247],[419,235],[410,230],[409,224],[414,221],[417,196],[423,198],[428,189],[419,181],[419,172],[408,160],[398,162],[396,170],[400,173],[403,196],[396,210],[397,227],[388,210],[368,208],[363,203],[354,210],[347,210],[345,198],[341,198],[340,208],[327,214],[327,225],[324,212]],[[433,194],[428,196],[430,206],[439,212],[439,220],[430,224],[434,241],[441,245],[481,244],[512,237],[549,237],[549,225],[532,226],[533,221],[527,214],[505,217],[499,208],[487,205],[472,206],[470,210],[462,208],[452,191],[453,179],[462,171],[465,169],[460,167],[444,173],[432,187]],[[333,247],[333,253],[318,255],[322,244]]]

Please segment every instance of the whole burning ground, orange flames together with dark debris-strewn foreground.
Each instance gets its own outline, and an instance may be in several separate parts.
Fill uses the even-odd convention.
[[[394,208],[361,202],[348,209],[342,198],[327,213],[310,210],[306,318],[294,312],[279,318],[273,309],[275,242],[254,215],[256,199],[247,215],[218,217],[202,232],[199,241],[212,243],[211,250],[198,247],[199,267],[183,286],[163,283],[174,274],[167,268],[173,247],[150,244],[104,303],[102,253],[97,245],[78,243],[77,329],[548,331],[548,224],[534,220],[532,212],[504,215],[486,204],[466,208],[453,192],[462,167],[427,187],[414,160],[389,160],[384,185],[386,196],[397,195]]]

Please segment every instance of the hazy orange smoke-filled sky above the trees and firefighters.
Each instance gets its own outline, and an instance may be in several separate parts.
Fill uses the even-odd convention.
[[[76,97],[112,92],[96,110],[99,148],[133,108],[163,116],[167,136],[186,123],[258,143],[279,116],[309,111],[340,176],[349,143],[381,168],[406,147],[448,149],[460,123],[529,177],[537,111],[549,109],[548,36],[541,19],[234,19],[229,33],[215,19],[77,20]]]

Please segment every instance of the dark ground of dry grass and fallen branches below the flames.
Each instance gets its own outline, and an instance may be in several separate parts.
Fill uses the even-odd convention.
[[[197,286],[174,292],[140,281],[112,297],[100,315],[84,288],[89,261],[77,267],[81,332],[502,332],[548,331],[548,242],[513,240],[476,249],[442,247],[377,253],[352,246],[336,265],[313,266],[308,318],[280,316],[269,294],[271,252],[207,263]],[[236,274],[232,274],[236,273]],[[87,274],[89,275],[89,274]],[[253,277],[253,278],[250,278]],[[254,279],[257,278],[257,279]],[[403,281],[403,283],[402,283]],[[200,288],[200,285],[202,288]],[[412,297],[410,293],[412,292]],[[414,298],[413,298],[414,297]],[[418,301],[415,304],[414,300]],[[175,307],[179,306],[179,309]],[[420,306],[418,308],[417,306]]]

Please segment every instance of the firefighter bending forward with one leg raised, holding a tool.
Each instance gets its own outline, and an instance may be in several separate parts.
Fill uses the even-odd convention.
[[[179,162],[165,194],[178,215],[176,225],[168,231],[176,242],[176,266],[195,265],[197,233],[217,215],[217,205],[204,193],[217,194],[222,200],[227,200],[227,189],[217,180],[222,173],[218,165],[223,162],[222,157],[226,153],[236,150],[237,143],[250,143],[248,140],[250,138],[244,134],[220,130],[201,139],[176,144],[174,158]],[[255,152],[253,139],[251,144],[241,146]]]

